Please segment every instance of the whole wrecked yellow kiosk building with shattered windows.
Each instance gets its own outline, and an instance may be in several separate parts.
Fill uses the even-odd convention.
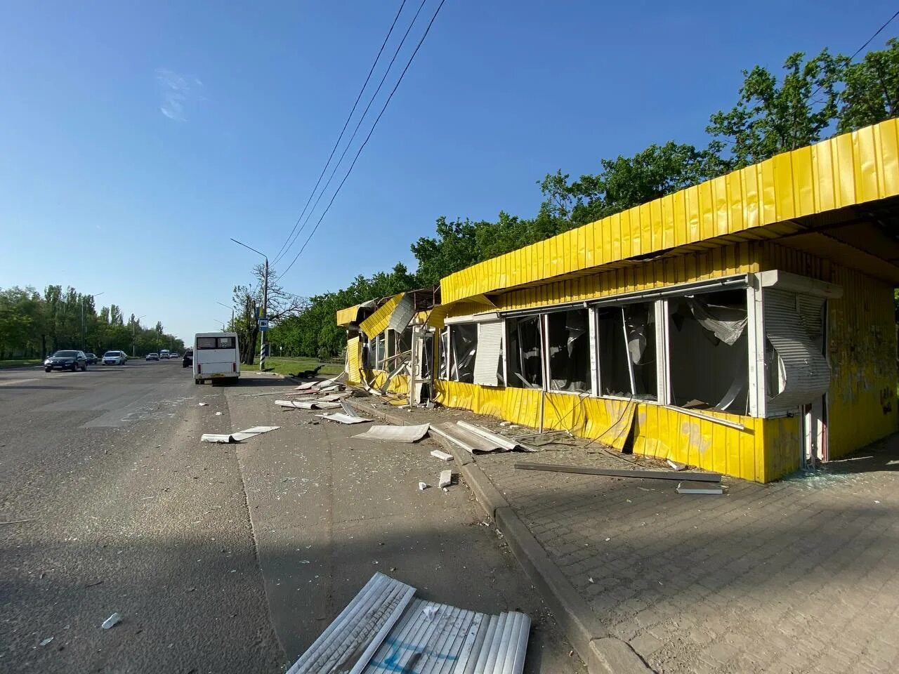
[[[348,374],[769,482],[896,429],[897,195],[887,121],[382,300]]]

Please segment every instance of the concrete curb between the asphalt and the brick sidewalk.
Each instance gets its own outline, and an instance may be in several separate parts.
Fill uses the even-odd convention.
[[[350,404],[358,412],[396,426],[406,425],[406,420],[396,414],[367,407],[356,403],[352,398]],[[587,606],[565,575],[549,559],[546,550],[481,470],[481,466],[477,465],[474,457],[441,436],[432,434],[431,438],[453,456],[458,472],[475,492],[477,502],[487,516],[503,532],[515,559],[540,591],[568,641],[586,663],[589,674],[652,674],[653,670],[646,666],[645,661],[628,643],[609,635],[592,608]]]

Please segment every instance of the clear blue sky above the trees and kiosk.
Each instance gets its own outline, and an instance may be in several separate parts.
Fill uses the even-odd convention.
[[[399,1],[17,5],[0,22],[0,287],[102,291],[98,303],[189,337],[229,317],[216,302],[257,262],[229,237],[280,249]],[[705,145],[741,69],[850,54],[895,11],[611,5],[447,0],[284,286],[307,296],[414,269],[409,244],[436,217],[531,216],[546,173]]]

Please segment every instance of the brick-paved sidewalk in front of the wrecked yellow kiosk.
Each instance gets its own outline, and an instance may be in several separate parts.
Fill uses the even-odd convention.
[[[402,414],[410,422],[456,417],[473,415]],[[725,478],[723,496],[679,495],[676,483],[660,480],[513,468],[634,460],[595,445],[553,449],[478,456],[474,479],[489,480],[482,489],[501,494],[601,628],[652,670],[899,670],[897,439],[814,477],[770,485]]]

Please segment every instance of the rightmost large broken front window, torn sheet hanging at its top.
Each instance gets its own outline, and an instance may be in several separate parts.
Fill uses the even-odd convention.
[[[746,291],[725,290],[668,300],[672,404],[748,412]]]

